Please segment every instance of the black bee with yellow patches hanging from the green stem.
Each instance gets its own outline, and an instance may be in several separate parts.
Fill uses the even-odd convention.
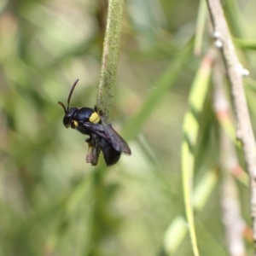
[[[79,79],[75,80],[67,97],[67,108],[58,102],[64,109],[63,125],[73,128],[83,134],[89,135],[86,139],[88,152],[86,162],[96,166],[102,151],[107,166],[112,166],[119,161],[121,153],[131,155],[131,149],[125,140],[108,124],[103,113],[97,108],[69,108],[73,90]]]

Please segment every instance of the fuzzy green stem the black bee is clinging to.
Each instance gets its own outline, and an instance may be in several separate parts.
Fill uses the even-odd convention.
[[[107,118],[113,107],[114,87],[119,61],[123,0],[108,1],[108,20],[103,45],[102,69],[96,106]]]

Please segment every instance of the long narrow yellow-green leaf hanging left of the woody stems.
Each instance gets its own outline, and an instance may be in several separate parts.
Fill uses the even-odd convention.
[[[195,235],[195,221],[193,213],[193,173],[195,165],[195,146],[198,137],[200,116],[207,96],[208,84],[212,70],[212,55],[209,52],[201,61],[195,80],[189,94],[190,109],[185,114],[183,121],[182,143],[182,172],[183,172],[183,195],[185,211],[189,222],[189,234],[195,256],[199,256]]]

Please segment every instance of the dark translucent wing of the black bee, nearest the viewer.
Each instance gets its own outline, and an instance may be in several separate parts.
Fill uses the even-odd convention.
[[[131,155],[131,149],[129,148],[128,144],[125,140],[119,136],[117,131],[114,131],[112,125],[109,125],[105,117],[102,115],[100,116],[102,120],[102,127],[105,131],[105,136],[108,137],[108,140],[111,141],[113,148],[121,153]]]

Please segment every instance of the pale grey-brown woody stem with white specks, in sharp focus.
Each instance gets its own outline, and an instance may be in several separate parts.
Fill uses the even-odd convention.
[[[231,84],[231,95],[237,119],[237,135],[242,143],[243,153],[250,177],[251,215],[253,218],[254,255],[256,255],[256,143],[247,109],[247,100],[242,84],[245,73],[236,55],[224,12],[219,0],[207,0],[212,19],[216,45],[218,45]],[[218,44],[217,44],[218,43]]]

